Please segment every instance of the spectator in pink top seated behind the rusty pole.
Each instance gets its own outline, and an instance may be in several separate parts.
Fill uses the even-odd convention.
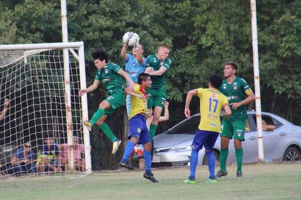
[[[85,160],[82,158],[82,153],[85,151],[83,144],[79,144],[78,137],[73,136],[73,156],[74,156],[74,167],[76,170],[85,171]],[[67,166],[69,164],[69,145],[60,144],[59,149],[61,151],[61,164]]]

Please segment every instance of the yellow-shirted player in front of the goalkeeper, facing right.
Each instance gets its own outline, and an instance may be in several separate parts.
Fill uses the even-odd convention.
[[[152,174],[150,167],[152,165],[152,139],[149,136],[149,132],[146,126],[146,118],[149,114],[147,109],[146,98],[149,96],[145,90],[150,88],[152,80],[149,74],[141,73],[138,76],[138,84],[136,84],[134,91],[125,89],[125,92],[130,96],[130,114],[128,118],[128,143],[125,147],[122,160],[119,162],[119,166],[125,167],[129,170],[134,168],[128,163],[128,157],[130,156],[134,146],[138,144],[143,145],[143,158],[145,160],[145,173],[143,177],[151,180],[152,182],[158,182]]]

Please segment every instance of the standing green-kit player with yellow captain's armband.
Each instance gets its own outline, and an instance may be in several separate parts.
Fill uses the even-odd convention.
[[[229,140],[234,139],[235,156],[237,162],[236,176],[242,176],[242,156],[243,150],[241,141],[244,141],[244,131],[246,122],[246,105],[255,100],[255,95],[248,83],[237,76],[237,64],[231,61],[226,62],[224,76],[219,90],[228,97],[232,115],[224,118],[221,127],[221,151],[220,151],[220,171],[216,177],[227,175],[226,162],[228,156]]]

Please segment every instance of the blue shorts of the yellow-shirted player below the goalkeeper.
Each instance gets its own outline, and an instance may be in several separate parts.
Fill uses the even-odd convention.
[[[146,144],[152,142],[149,136],[149,132],[146,126],[146,119],[143,115],[135,115],[128,121],[129,131],[128,139],[131,137],[138,138],[138,144]]]

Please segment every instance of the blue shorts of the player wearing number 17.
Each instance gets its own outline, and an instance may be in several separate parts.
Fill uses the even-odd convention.
[[[218,137],[217,132],[197,130],[192,142],[193,150],[201,150],[203,146],[205,149],[212,151]]]

